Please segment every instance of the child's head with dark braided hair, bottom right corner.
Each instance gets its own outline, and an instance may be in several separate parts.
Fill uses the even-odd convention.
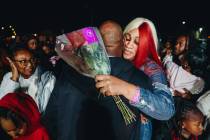
[[[203,132],[204,116],[201,111],[189,101],[181,101],[174,118],[172,140],[198,140]]]

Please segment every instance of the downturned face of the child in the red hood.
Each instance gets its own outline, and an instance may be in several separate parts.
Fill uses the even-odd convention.
[[[13,139],[17,139],[26,133],[26,123],[22,123],[20,127],[16,127],[12,120],[0,118],[0,124],[3,130]]]

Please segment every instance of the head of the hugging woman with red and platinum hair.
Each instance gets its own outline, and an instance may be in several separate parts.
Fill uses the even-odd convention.
[[[157,53],[157,33],[150,20],[134,19],[126,26],[123,34],[125,44],[123,57],[125,59],[133,61],[134,65],[139,68],[146,63],[147,58],[150,58],[162,67]]]

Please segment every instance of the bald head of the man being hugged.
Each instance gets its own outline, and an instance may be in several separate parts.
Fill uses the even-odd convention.
[[[107,53],[121,57],[123,50],[123,32],[121,26],[111,20],[103,22],[99,27]]]

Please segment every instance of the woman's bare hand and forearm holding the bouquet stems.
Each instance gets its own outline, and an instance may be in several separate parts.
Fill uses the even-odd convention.
[[[96,88],[106,96],[123,95],[131,100],[136,93],[137,86],[111,75],[97,75]]]

